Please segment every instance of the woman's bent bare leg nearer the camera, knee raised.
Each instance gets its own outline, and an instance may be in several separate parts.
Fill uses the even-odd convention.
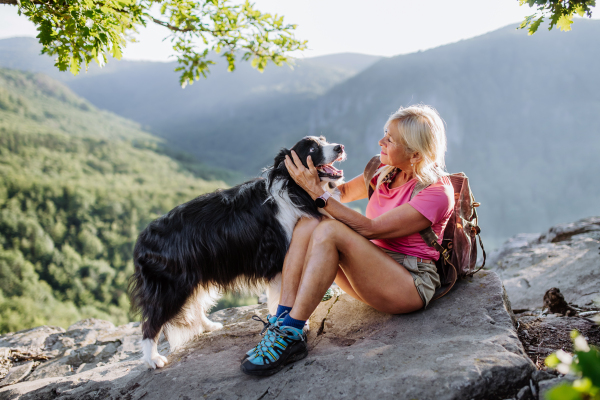
[[[356,295],[379,311],[399,314],[423,307],[405,268],[343,223],[324,220],[310,239],[292,318],[310,317],[338,275],[338,265]]]

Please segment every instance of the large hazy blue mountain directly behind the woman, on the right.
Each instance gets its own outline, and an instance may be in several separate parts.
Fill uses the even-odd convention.
[[[383,59],[321,96],[306,126],[346,144],[353,176],[393,111],[433,105],[447,124],[448,170],[470,177],[488,244],[596,215],[600,21],[577,22],[568,33],[508,26]]]

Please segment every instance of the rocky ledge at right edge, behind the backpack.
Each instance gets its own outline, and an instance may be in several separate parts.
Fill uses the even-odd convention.
[[[511,300],[519,338],[540,369],[549,354],[573,351],[572,330],[600,345],[599,246],[600,217],[591,217],[517,235],[489,258]],[[561,379],[573,378],[544,381],[539,398]]]

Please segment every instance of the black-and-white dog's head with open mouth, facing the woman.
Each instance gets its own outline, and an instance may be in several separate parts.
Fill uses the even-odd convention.
[[[273,163],[274,170],[285,168],[285,156],[292,158],[292,150],[296,152],[302,164],[308,168],[306,159],[308,156],[312,159],[314,166],[319,172],[321,181],[338,182],[344,178],[344,171],[333,166],[336,161],[344,161],[346,152],[344,146],[337,143],[328,143],[325,137],[306,136],[296,143],[291,149],[281,149],[275,162]]]

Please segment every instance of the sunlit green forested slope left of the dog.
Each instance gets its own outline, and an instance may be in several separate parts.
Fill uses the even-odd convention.
[[[0,69],[0,333],[130,320],[139,230],[225,185],[161,153],[160,139],[62,84]]]

